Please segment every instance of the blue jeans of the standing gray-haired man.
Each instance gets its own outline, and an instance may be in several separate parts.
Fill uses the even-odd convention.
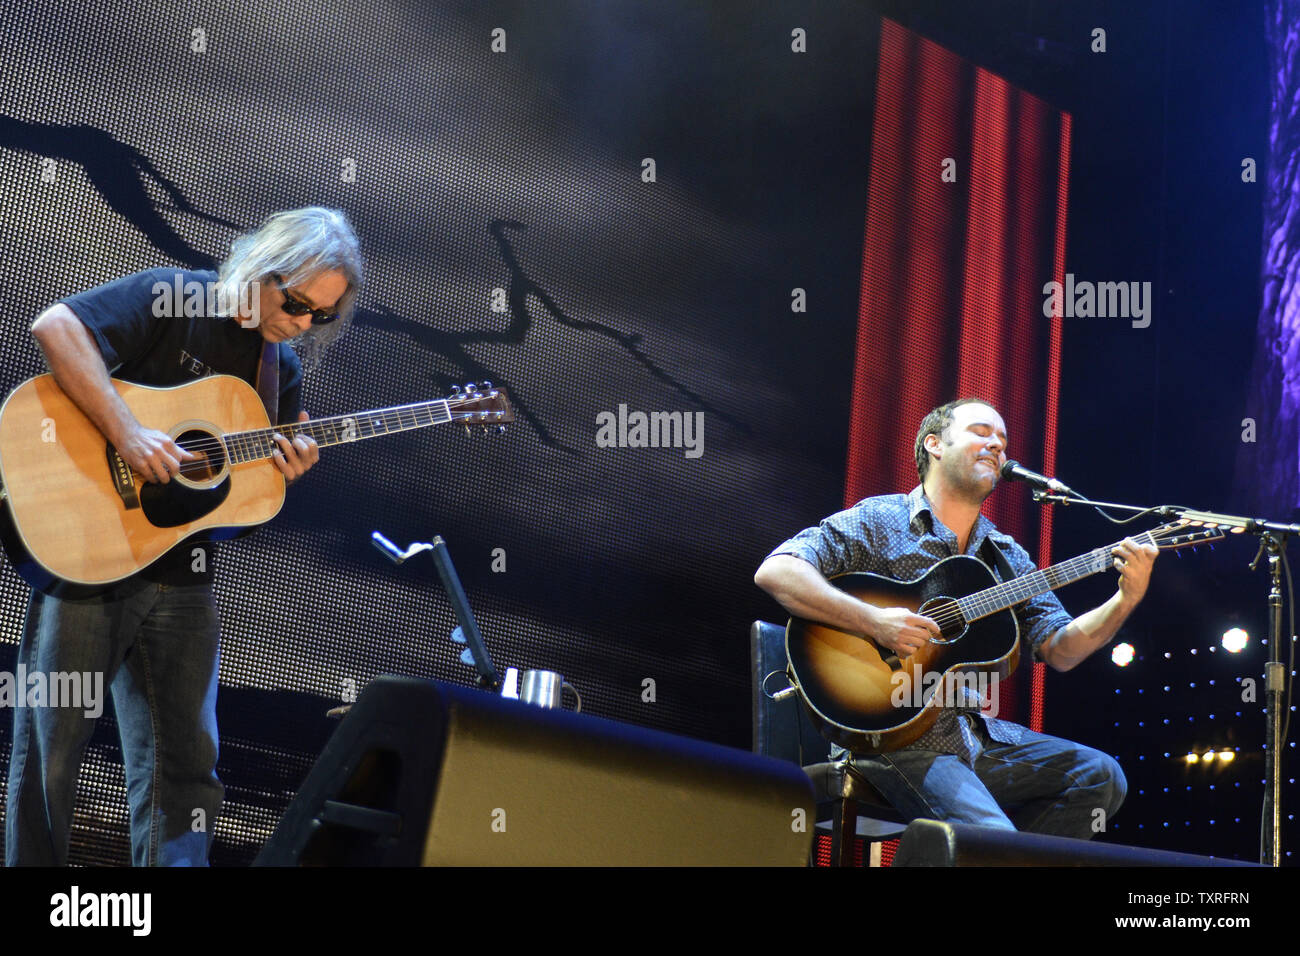
[[[209,585],[133,583],[86,601],[32,592],[18,648],[27,674],[103,674],[113,696],[135,866],[205,866],[217,779],[217,644]],[[68,862],[77,775],[95,718],[14,709],[5,864]]]

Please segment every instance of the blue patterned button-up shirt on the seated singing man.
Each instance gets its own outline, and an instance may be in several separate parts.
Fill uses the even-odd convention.
[[[982,514],[975,522],[966,554],[980,558],[980,548],[985,538],[997,545],[1017,578],[1037,570],[1028,553]],[[846,511],[831,515],[815,528],[801,531],[777,546],[772,554],[802,558],[826,578],[850,571],[870,571],[894,580],[910,581],[920,578],[944,558],[958,554],[958,550],[957,535],[935,518],[930,499],[922,486],[916,485],[910,494],[863,498]],[[1013,613],[1020,626],[1020,637],[1028,643],[1036,661],[1043,659],[1039,653],[1043,641],[1072,620],[1050,591],[1018,605]],[[979,713],[979,697],[968,693],[957,706],[940,708],[935,726],[902,749],[956,753],[974,765],[979,754],[979,743],[968,719],[961,718],[963,714],[976,713]],[[980,714],[980,718],[988,735],[1004,744],[1022,743],[1030,732],[1018,723],[998,721],[984,714]],[[841,753],[842,748],[831,745],[832,760]]]

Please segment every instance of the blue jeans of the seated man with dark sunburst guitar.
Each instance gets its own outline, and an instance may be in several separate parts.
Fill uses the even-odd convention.
[[[1124,801],[1123,770],[1100,750],[1032,731],[1024,731],[1019,744],[1004,744],[988,735],[982,719],[959,719],[974,721],[982,745],[974,769],[956,754],[933,750],[855,754],[854,766],[909,819],[1087,840]]]

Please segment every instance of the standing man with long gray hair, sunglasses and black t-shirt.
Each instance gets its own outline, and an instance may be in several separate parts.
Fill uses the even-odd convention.
[[[161,268],[72,295],[31,330],[55,381],[150,481],[196,455],[140,424],[109,376],[178,385],[233,375],[268,416],[306,421],[308,368],[356,308],[361,256],[347,217],[278,212],[240,235],[218,273]],[[294,481],[318,455],[309,436],[277,436],[272,462]],[[27,674],[103,674],[122,739],[135,865],[205,865],[224,788],[217,779],[217,645],[212,545],[190,538],[88,600],[32,592],[18,650]],[[64,865],[77,775],[95,721],[74,708],[14,708],[5,861]]]

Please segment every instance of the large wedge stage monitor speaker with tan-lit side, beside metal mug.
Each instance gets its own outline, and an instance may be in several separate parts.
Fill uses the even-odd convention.
[[[814,808],[785,761],[385,676],[255,865],[805,866]]]

